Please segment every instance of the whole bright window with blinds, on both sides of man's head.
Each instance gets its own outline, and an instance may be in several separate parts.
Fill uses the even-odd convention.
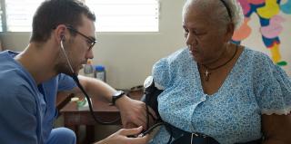
[[[31,32],[33,14],[43,1],[5,0],[6,31]],[[158,32],[158,0],[85,0],[85,4],[96,15],[97,32]]]

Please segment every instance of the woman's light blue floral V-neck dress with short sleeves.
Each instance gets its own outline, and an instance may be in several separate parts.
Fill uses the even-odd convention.
[[[197,64],[188,49],[156,62],[153,77],[164,88],[158,96],[163,120],[176,128],[209,135],[222,144],[262,137],[262,114],[291,110],[291,81],[264,53],[245,48],[220,89],[204,93]],[[166,144],[162,128],[151,142]]]

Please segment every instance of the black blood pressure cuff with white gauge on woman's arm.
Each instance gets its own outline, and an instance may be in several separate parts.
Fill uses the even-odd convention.
[[[158,120],[160,119],[160,115],[157,110],[157,96],[162,93],[164,90],[159,90],[155,86],[155,82],[152,76],[146,78],[144,83],[145,94],[143,95],[141,101],[144,101],[147,106],[151,107],[155,112]]]

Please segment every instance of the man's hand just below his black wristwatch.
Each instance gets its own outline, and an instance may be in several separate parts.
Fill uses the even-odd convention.
[[[146,104],[143,101],[135,101],[127,96],[116,101],[116,106],[120,110],[121,120],[124,128],[135,128],[143,126],[146,128]],[[155,117],[154,110],[149,109]]]

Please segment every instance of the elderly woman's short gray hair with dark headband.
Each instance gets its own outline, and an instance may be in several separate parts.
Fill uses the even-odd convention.
[[[224,5],[222,1],[224,1],[226,5]],[[186,0],[182,16],[184,17],[188,11],[189,5],[194,5],[196,3],[201,7],[201,9],[209,7],[209,3],[216,3],[216,8],[214,9],[212,7],[212,15],[209,15],[209,18],[213,18],[216,22],[218,21],[222,24],[228,24],[231,21],[235,25],[235,29],[237,29],[244,21],[243,9],[237,0]],[[229,8],[230,15],[227,13],[226,6]]]

